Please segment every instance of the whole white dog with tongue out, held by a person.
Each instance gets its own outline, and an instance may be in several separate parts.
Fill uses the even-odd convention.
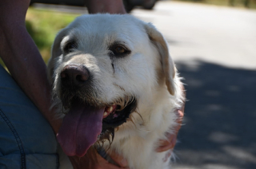
[[[170,168],[170,152],[155,149],[174,133],[185,98],[166,40],[151,23],[82,15],[58,33],[47,71],[66,155],[94,146],[108,160],[116,151],[132,169]]]

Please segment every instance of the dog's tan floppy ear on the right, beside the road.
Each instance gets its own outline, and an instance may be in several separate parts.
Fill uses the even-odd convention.
[[[150,41],[158,48],[158,52],[161,57],[162,71],[166,77],[166,86],[171,95],[174,95],[174,77],[175,77],[175,66],[174,61],[169,55],[168,45],[165,38],[151,23],[145,25],[146,33],[150,37]]]

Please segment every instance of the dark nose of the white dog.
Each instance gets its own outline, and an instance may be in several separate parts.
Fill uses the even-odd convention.
[[[62,85],[66,87],[82,87],[89,77],[89,71],[83,65],[66,65],[61,73]]]

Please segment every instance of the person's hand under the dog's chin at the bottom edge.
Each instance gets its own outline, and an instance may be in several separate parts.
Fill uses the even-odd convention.
[[[112,153],[110,157],[118,166],[107,162],[101,155],[98,155],[94,148],[90,148],[83,157],[72,156],[69,158],[74,169],[129,169],[126,159],[123,159],[121,155]]]

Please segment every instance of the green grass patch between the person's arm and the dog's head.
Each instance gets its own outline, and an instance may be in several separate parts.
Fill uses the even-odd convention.
[[[38,46],[45,62],[50,58],[50,48],[58,31],[66,27],[78,15],[29,8],[26,14],[26,29]],[[6,67],[1,58],[0,64]]]

